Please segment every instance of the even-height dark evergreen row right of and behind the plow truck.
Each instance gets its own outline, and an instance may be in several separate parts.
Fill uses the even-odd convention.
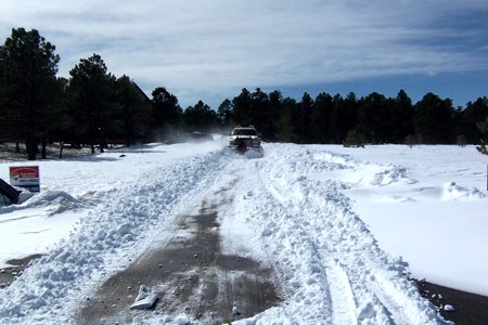
[[[396,98],[322,92],[296,101],[279,91],[243,89],[219,106],[218,117],[229,126],[254,125],[265,140],[296,143],[475,144],[488,135],[487,98],[454,108],[450,99],[434,93],[413,104],[403,90]]]

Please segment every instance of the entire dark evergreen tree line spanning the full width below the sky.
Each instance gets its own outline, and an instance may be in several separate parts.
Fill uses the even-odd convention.
[[[0,47],[0,142],[25,143],[29,159],[51,142],[103,150],[108,143],[179,140],[192,131],[229,131],[254,125],[266,141],[296,143],[477,143],[487,134],[488,99],[454,108],[427,93],[413,104],[396,98],[352,92],[283,98],[280,91],[243,89],[211,109],[198,101],[180,107],[164,87],[147,98],[130,77],[108,73],[99,54],[81,58],[69,78],[56,77],[60,56],[36,29],[12,29]]]

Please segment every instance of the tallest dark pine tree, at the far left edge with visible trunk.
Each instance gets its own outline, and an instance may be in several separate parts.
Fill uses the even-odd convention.
[[[3,133],[24,139],[29,160],[35,160],[39,140],[46,141],[47,119],[56,92],[60,57],[39,31],[12,29],[0,47],[0,94]]]

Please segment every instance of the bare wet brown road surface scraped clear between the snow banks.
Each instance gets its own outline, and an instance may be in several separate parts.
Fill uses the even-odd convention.
[[[180,233],[166,247],[106,281],[76,317],[79,324],[126,324],[137,315],[187,314],[202,324],[252,317],[281,301],[271,268],[253,259],[223,255],[218,206],[182,216]],[[191,233],[191,236],[188,235]],[[151,311],[130,310],[141,285],[157,294]]]

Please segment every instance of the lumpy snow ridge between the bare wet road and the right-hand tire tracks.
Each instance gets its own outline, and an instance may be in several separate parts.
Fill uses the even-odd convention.
[[[287,284],[282,285],[284,295],[288,297],[279,311],[264,312],[254,321],[272,322],[278,314],[286,320],[285,323],[330,324],[331,302],[324,265],[306,232],[290,212],[286,194],[278,190],[280,185],[270,183],[266,174],[261,173],[259,161],[248,164],[242,174],[246,176],[246,188],[253,188],[252,197],[241,203],[245,206],[243,210],[257,227],[265,226],[264,250],[268,251],[270,259],[275,260],[277,272]],[[280,232],[275,232],[279,229]],[[304,273],[311,276],[304,281],[300,276]],[[296,313],[296,306],[300,307],[300,313]]]

